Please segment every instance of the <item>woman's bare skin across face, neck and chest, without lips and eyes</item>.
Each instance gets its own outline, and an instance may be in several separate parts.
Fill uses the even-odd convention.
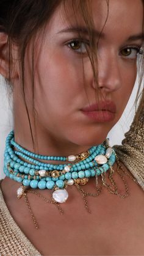
[[[106,1],[94,0],[92,5],[95,29],[101,31],[107,15]],[[136,51],[132,49],[131,56],[124,56],[121,50],[129,48],[129,46],[133,48],[142,45],[142,40],[128,42],[130,36],[142,33],[142,1],[132,1],[131,5],[129,5],[129,0],[109,1],[109,18],[103,29],[105,36],[100,38],[98,46],[99,89],[97,90],[94,86],[92,67],[87,55],[84,56],[86,72],[86,87],[84,89],[81,57],[67,45],[70,40],[77,38],[77,34],[59,33],[68,24],[74,25],[75,20],[71,9],[68,17],[68,20],[65,16],[62,18],[60,9],[56,10],[49,23],[45,41],[41,48],[37,48],[35,55],[36,59],[38,58],[35,72],[38,153],[44,155],[76,154],[103,142],[112,126],[120,119],[131,95],[137,74]],[[79,24],[82,25],[78,14],[77,18]],[[2,42],[4,45],[4,40]],[[32,42],[27,48],[25,60],[26,100],[32,117],[31,49]],[[13,48],[13,54],[17,57],[16,47]],[[1,67],[1,73],[4,75],[3,67]],[[16,63],[15,72],[13,71],[15,140],[24,148],[33,151],[20,82],[20,71],[18,63]],[[112,122],[96,123],[87,119],[81,112],[81,109],[88,106],[89,103],[95,103],[95,93],[100,91],[106,100],[112,100],[116,104],[117,111]],[[34,129],[33,124],[32,129]],[[121,186],[117,174],[115,174],[115,180],[123,191],[124,188]],[[95,181],[92,178],[85,186],[86,190],[94,192],[93,182]],[[35,197],[30,195],[32,209],[34,213],[37,213],[37,219],[40,222],[40,230],[37,232],[29,218],[24,200],[18,201],[15,197],[15,191],[20,185],[5,178],[1,186],[5,202],[16,223],[43,255],[48,252],[49,255],[58,253],[59,255],[140,255],[143,252],[144,208],[141,208],[140,212],[138,211],[142,207],[143,192],[131,180],[129,180],[131,196],[126,200],[111,196],[107,191],[103,193],[103,200],[101,200],[101,196],[98,197],[97,203],[94,203],[95,199],[90,198],[89,205],[92,209],[92,216],[84,212],[81,197],[77,196],[77,191],[73,187],[68,188],[70,200],[63,204],[66,215],[64,214],[62,218],[56,213],[55,207],[51,205],[48,207],[41,200],[35,200]],[[44,196],[48,193],[49,191],[41,191]],[[79,211],[76,211],[76,205],[79,206]],[[104,214],[105,207],[107,214]],[[37,211],[38,208],[41,211]],[[121,209],[123,209],[123,214]],[[127,213],[134,213],[134,216],[137,214],[137,218]],[[65,226],[63,226],[64,222]],[[139,225],[142,230],[137,231]],[[118,240],[118,230],[123,233],[123,241]],[[139,237],[139,241],[137,241],[139,249],[135,248],[135,243],[132,242],[135,239],[135,232]],[[86,241],[85,234],[87,234]],[[45,243],[45,238],[49,243]],[[101,238],[105,242],[104,247]],[[65,245],[63,241],[66,242]],[[72,248],[71,244],[75,246]]]

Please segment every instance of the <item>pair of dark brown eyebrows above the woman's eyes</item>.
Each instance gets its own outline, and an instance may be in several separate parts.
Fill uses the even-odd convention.
[[[67,27],[65,29],[62,29],[62,31],[59,31],[57,34],[70,33],[70,32],[79,32],[81,34],[88,35],[87,28],[82,27],[82,26]],[[92,29],[92,34],[95,37],[101,36],[102,38],[104,38],[106,36],[103,32],[99,32],[96,29]],[[140,33],[140,34],[137,34],[137,35],[131,35],[126,41],[129,42],[129,41],[136,41],[136,40],[144,40],[144,33]]]

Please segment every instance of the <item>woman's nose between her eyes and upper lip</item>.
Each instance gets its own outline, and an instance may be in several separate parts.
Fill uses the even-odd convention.
[[[121,74],[117,54],[105,53],[98,56],[97,70],[99,89],[103,89],[105,92],[113,92],[120,89]]]

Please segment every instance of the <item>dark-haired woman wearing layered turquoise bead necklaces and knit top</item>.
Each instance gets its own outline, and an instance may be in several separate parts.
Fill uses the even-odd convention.
[[[142,255],[143,190],[106,136],[142,64],[143,1],[2,1],[0,10],[14,111],[1,254]]]

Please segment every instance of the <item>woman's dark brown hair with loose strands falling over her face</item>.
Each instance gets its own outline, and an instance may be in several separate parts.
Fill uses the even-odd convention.
[[[95,86],[97,83],[97,56],[96,56],[96,47],[93,42],[92,29],[93,18],[92,18],[92,4],[91,0],[1,0],[0,3],[0,32],[4,32],[8,35],[7,49],[9,52],[9,79],[11,82],[11,63],[12,63],[12,43],[15,42],[19,46],[20,51],[20,60],[21,60],[21,81],[23,88],[23,98],[26,106],[27,116],[29,118],[29,111],[27,109],[25,90],[24,90],[24,57],[26,53],[27,45],[29,44],[31,38],[37,39],[37,34],[41,30],[45,32],[46,24],[51,20],[52,14],[55,10],[62,5],[65,14],[67,15],[68,2],[71,2],[73,7],[73,12],[76,13],[77,10],[81,14],[86,26],[88,35],[90,38],[90,48],[87,49],[88,57],[93,68],[93,76],[95,81]],[[107,2],[107,17],[109,15],[109,0]],[[103,31],[103,29],[102,29]],[[101,32],[102,32],[101,31]],[[45,34],[45,33],[44,33]],[[101,34],[99,34],[99,37]],[[79,35],[81,37],[81,35]],[[35,45],[35,43],[34,43]],[[98,46],[98,45],[97,45]],[[139,84],[142,84],[143,78],[143,57],[139,56]],[[32,63],[34,64],[34,49],[32,51]],[[34,65],[32,66],[34,67]],[[12,88],[12,86],[11,86]],[[34,69],[32,71],[32,93],[34,98]],[[139,85],[140,89],[140,85]],[[96,93],[98,97],[98,93]],[[138,98],[138,97],[137,97]],[[98,100],[98,99],[97,99]],[[34,105],[34,102],[33,102]],[[33,106],[35,110],[35,106]],[[35,112],[34,112],[35,116]],[[137,113],[139,116],[139,113]],[[29,119],[29,125],[31,129],[32,142],[35,148],[35,139],[34,134],[32,134],[31,120]]]

